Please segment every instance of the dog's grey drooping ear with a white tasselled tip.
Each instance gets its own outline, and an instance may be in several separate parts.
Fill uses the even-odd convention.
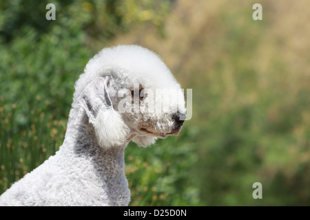
[[[103,148],[121,146],[129,133],[121,114],[113,109],[110,95],[116,96],[115,91],[115,83],[110,76],[98,77],[85,87],[78,100]]]

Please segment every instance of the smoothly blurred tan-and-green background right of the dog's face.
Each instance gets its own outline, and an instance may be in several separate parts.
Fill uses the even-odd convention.
[[[187,126],[199,131],[194,173],[201,202],[309,206],[310,56],[305,48],[310,27],[300,20],[310,18],[302,9],[309,2],[292,8],[265,1],[262,22],[251,19],[255,1],[181,2],[175,13],[183,17],[169,27],[174,30],[167,31],[167,43],[182,39],[183,44],[167,44],[158,53],[177,57],[169,65],[181,85],[193,89]],[[262,199],[252,197],[256,181],[262,183]]]

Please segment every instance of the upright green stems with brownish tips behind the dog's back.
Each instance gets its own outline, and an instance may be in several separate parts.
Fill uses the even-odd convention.
[[[39,96],[37,104],[39,105]],[[0,100],[0,192],[54,155],[62,144],[65,120],[34,109],[27,113],[30,126],[19,126],[16,104],[3,107]],[[10,129],[8,129],[10,128]]]

